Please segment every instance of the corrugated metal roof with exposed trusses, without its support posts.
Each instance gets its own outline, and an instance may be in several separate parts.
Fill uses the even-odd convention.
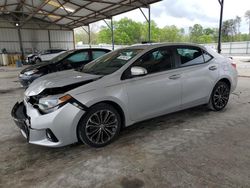
[[[32,18],[70,29],[89,25],[161,0],[3,0],[0,16],[25,25]]]

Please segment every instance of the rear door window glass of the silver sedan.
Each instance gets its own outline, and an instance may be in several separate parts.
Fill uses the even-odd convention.
[[[202,50],[195,47],[177,47],[180,67],[204,63]]]

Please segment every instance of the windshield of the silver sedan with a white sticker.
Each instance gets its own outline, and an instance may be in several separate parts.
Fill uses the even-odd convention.
[[[120,69],[141,51],[141,49],[120,49],[110,52],[85,65],[82,72],[97,75],[111,74]]]

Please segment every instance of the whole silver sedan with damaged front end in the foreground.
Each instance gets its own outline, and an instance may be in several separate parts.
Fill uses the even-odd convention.
[[[236,85],[232,60],[208,48],[132,46],[37,79],[12,116],[29,143],[102,147],[136,122],[203,104],[220,111]]]

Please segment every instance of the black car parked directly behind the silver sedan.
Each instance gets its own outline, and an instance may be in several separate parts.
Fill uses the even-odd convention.
[[[48,62],[40,62],[23,69],[19,75],[19,81],[24,87],[28,87],[35,79],[52,72],[68,69],[77,69],[98,57],[110,52],[108,49],[88,48],[69,50]]]

